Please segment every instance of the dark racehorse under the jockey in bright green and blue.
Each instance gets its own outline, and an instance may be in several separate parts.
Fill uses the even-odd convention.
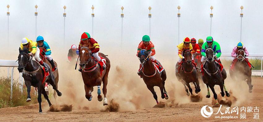
[[[204,76],[202,76],[202,79],[204,83],[207,86],[207,95],[206,98],[210,97],[210,91],[209,88],[212,90],[214,99],[216,100],[216,105],[218,106],[218,100],[217,100],[217,94],[215,92],[214,86],[219,85],[221,89],[221,96],[225,96],[224,90],[226,92],[226,96],[229,97],[230,93],[227,92],[226,86],[225,86],[225,79],[226,79],[226,70],[222,69],[220,71],[219,69],[219,63],[214,60],[213,55],[213,49],[211,46],[208,48],[205,48],[205,54],[206,54],[206,61],[203,67]],[[221,67],[222,68],[222,67]]]

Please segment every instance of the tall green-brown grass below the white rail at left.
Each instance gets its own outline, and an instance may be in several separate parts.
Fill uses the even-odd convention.
[[[35,94],[35,89],[31,87],[31,102],[26,102],[27,99],[27,89],[23,84],[23,93],[19,89],[19,82],[14,80],[13,82],[13,95],[11,95],[11,78],[10,77],[0,77],[0,108],[6,107],[16,107],[21,105],[34,104],[37,102],[37,94]]]

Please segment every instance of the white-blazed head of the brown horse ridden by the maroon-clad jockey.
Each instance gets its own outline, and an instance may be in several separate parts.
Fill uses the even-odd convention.
[[[88,49],[87,45],[83,45],[80,48],[80,67],[84,69],[85,66],[91,61],[91,51]]]

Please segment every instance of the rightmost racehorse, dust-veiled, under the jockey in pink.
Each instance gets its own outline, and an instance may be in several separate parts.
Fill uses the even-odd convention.
[[[245,58],[246,53],[244,50],[238,50],[237,53],[237,62],[235,64],[234,71],[229,69],[230,77],[235,81],[247,81],[249,92],[252,92],[253,85],[251,85],[251,68],[248,66],[248,63],[245,61],[247,60]]]

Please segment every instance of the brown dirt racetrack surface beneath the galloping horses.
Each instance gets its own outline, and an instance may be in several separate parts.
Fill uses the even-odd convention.
[[[249,96],[243,96],[246,100],[239,103],[240,107],[257,106],[259,107],[260,119],[253,119],[253,113],[247,113],[246,119],[239,119],[240,113],[227,114],[227,116],[238,116],[238,119],[218,119],[212,115],[210,118],[201,116],[200,109],[204,105],[212,107],[211,102],[189,102],[184,104],[166,102],[165,108],[140,108],[133,111],[119,111],[119,112],[101,112],[99,109],[88,108],[75,108],[72,112],[49,112],[48,104],[43,104],[43,114],[38,113],[38,104],[28,106],[18,106],[14,108],[0,109],[0,121],[261,121],[262,109],[262,92],[263,92],[263,79],[253,78],[254,87],[253,92]],[[244,92],[248,92],[244,90]],[[234,94],[231,94],[234,95]],[[247,94],[246,94],[247,95]],[[207,98],[203,98],[207,99]],[[237,100],[243,99],[237,97]],[[211,98],[209,98],[211,100]],[[44,100],[43,100],[44,101]],[[233,104],[234,105],[234,104]],[[231,108],[234,106],[232,105]],[[224,112],[226,107],[222,107]],[[218,108],[213,108],[214,112]]]

